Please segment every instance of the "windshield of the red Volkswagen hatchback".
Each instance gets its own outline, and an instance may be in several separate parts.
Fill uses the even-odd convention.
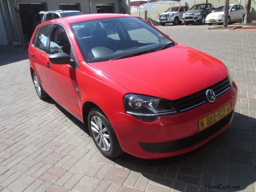
[[[156,51],[171,42],[136,17],[89,20],[70,26],[87,62],[108,61],[131,53]]]

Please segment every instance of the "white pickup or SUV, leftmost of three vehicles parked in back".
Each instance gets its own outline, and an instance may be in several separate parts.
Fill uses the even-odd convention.
[[[180,18],[182,14],[189,10],[188,6],[171,7],[167,11],[158,16],[158,22],[164,26],[165,23],[172,23],[173,25],[181,24]]]

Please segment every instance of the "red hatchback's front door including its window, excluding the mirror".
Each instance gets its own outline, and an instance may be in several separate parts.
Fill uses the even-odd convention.
[[[46,71],[52,98],[75,116],[81,117],[74,87],[76,68],[70,65],[52,64],[49,56],[58,52],[70,55],[70,43],[66,31],[60,25],[54,25],[50,38],[49,55],[46,56],[48,63]]]

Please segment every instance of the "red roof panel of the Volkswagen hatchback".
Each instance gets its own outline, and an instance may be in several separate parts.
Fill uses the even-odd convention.
[[[49,20],[44,22],[46,23],[60,23],[60,24],[71,24],[82,21],[96,20],[96,19],[106,19],[106,18],[115,18],[115,17],[134,17],[128,14],[115,14],[115,13],[95,13],[95,14],[84,14],[84,15],[75,15],[70,17],[62,17],[54,20]]]

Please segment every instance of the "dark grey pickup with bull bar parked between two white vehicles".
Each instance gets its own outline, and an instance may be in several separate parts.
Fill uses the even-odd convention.
[[[195,22],[204,24],[206,16],[214,10],[215,8],[210,3],[196,4],[189,11],[183,13],[181,20],[184,21],[185,25]]]

